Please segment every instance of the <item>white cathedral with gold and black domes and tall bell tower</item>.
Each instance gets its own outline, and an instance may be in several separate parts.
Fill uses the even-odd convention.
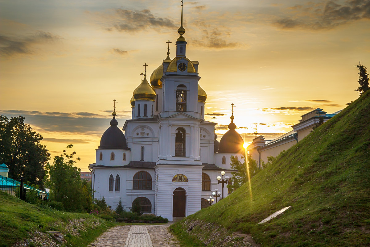
[[[224,197],[231,193],[226,184],[222,191],[217,177],[221,171],[231,177],[231,156],[243,162],[244,153],[233,115],[220,142],[216,123],[204,120],[207,95],[198,84],[198,61],[186,57],[182,10],[178,33],[176,57],[171,60],[167,53],[151,74],[151,85],[144,75],[133,92],[132,119],[124,133],[113,111],[96,162],[89,166],[94,198],[104,196],[113,209],[121,200],[127,211],[138,201],[143,213],[169,221],[209,206],[216,189]]]

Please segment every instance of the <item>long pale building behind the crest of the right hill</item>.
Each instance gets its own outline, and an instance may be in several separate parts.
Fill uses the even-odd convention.
[[[282,151],[288,150],[298,141],[305,138],[312,128],[316,126],[320,118],[324,122],[334,117],[340,111],[327,114],[323,109],[317,108],[309,113],[303,114],[302,119],[299,120],[299,123],[293,125],[293,130],[289,131],[282,136],[275,138],[274,140],[265,140],[263,136],[258,136],[254,138],[252,144],[247,147],[247,151],[251,154],[252,158],[256,160],[258,166],[260,166],[261,161],[267,163],[267,157],[273,156],[276,157]]]

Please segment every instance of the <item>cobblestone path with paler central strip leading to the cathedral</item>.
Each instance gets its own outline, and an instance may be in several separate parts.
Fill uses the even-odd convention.
[[[98,237],[94,244],[96,247],[179,247],[168,227],[169,225],[115,226]]]

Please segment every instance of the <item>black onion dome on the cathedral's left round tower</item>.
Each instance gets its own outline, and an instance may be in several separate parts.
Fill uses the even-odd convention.
[[[98,148],[129,150],[125,135],[117,125],[118,122],[115,120],[115,117],[113,117],[111,120],[111,127],[107,128],[101,136],[100,146]]]

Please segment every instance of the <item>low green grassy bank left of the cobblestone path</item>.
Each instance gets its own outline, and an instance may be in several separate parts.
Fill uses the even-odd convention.
[[[66,213],[51,208],[28,204],[16,197],[0,192],[0,247],[10,246],[28,233],[38,231],[61,231],[68,224],[68,220],[84,218],[87,232],[81,231],[81,236],[69,236],[67,246],[85,246],[95,237],[114,224],[101,218],[84,213]],[[99,220],[100,226],[92,228],[90,223]]]

